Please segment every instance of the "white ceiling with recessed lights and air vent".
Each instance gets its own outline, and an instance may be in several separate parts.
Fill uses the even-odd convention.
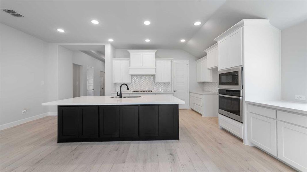
[[[270,19],[279,29],[307,19],[307,1],[296,0],[1,0],[0,8],[25,16],[1,11],[1,23],[47,42],[108,43],[112,38],[115,48],[183,49],[198,58],[243,18]],[[92,24],[93,19],[100,23]],[[144,25],[146,20],[151,24]],[[202,24],[194,26],[195,21]]]

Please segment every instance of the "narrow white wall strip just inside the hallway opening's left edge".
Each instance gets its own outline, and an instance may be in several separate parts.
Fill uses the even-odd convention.
[[[58,99],[72,98],[72,51],[58,47],[59,96]]]

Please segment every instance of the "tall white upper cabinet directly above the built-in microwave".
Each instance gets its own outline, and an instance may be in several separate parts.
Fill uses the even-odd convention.
[[[242,27],[218,42],[218,69],[242,65]]]

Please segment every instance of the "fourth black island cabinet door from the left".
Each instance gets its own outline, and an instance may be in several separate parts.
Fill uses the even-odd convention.
[[[119,137],[138,137],[138,106],[119,107]]]

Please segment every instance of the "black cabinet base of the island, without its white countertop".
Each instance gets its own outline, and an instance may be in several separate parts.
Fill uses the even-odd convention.
[[[178,140],[178,105],[58,106],[58,142]]]

